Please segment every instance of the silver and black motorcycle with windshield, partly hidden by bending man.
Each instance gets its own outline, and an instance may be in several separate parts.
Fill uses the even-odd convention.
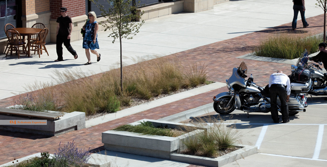
[[[247,66],[244,61],[238,68],[233,68],[232,76],[226,80],[226,85],[229,92],[223,92],[213,97],[213,108],[219,114],[229,114],[235,109],[247,112],[270,112],[270,97],[269,88],[262,88],[253,82],[253,78],[248,78],[246,75]],[[304,94],[293,93],[289,96],[288,115],[293,116],[304,109],[307,98]],[[280,100],[277,98],[277,103],[280,105]],[[280,107],[278,107],[280,111]]]

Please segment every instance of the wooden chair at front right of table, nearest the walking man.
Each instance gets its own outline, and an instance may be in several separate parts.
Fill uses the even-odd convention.
[[[42,50],[45,50],[47,52],[48,56],[49,56],[49,53],[48,53],[47,48],[46,48],[46,38],[47,38],[48,33],[49,33],[49,29],[44,28],[38,34],[37,40],[30,41],[31,48],[33,48],[31,50],[34,51],[34,54],[35,54],[35,52],[38,52],[39,58],[41,58],[40,52],[41,52],[41,55],[42,55]]]

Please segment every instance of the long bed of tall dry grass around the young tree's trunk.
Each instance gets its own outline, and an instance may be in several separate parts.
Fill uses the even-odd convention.
[[[119,69],[91,77],[86,77],[87,74],[79,71],[56,71],[56,84],[63,84],[35,84],[29,89],[41,90],[30,95],[32,98],[22,98],[16,104],[23,107],[27,106],[26,104],[51,104],[53,107],[39,110],[81,111],[86,115],[116,112],[122,106],[129,106],[131,98],[148,100],[161,94],[170,94],[180,88],[206,84],[205,68],[201,63],[183,67],[178,61],[167,58],[134,64],[123,68],[123,92],[120,89]]]

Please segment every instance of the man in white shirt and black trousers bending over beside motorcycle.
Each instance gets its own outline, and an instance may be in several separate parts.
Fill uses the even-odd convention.
[[[271,117],[274,123],[279,122],[278,111],[277,111],[277,96],[281,103],[281,115],[283,123],[289,122],[288,106],[290,94],[290,81],[289,77],[283,73],[283,71],[277,71],[270,75],[269,78],[269,94],[271,101]]]

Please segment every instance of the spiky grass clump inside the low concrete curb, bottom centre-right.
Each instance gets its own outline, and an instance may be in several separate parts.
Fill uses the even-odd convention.
[[[199,133],[194,138],[188,138],[183,141],[187,149],[181,153],[218,157],[228,152],[237,150],[234,145],[240,142],[240,134],[235,130],[234,126],[226,126],[222,120],[218,120],[212,116],[209,118],[197,118],[192,123],[195,126],[206,128],[206,133]]]

